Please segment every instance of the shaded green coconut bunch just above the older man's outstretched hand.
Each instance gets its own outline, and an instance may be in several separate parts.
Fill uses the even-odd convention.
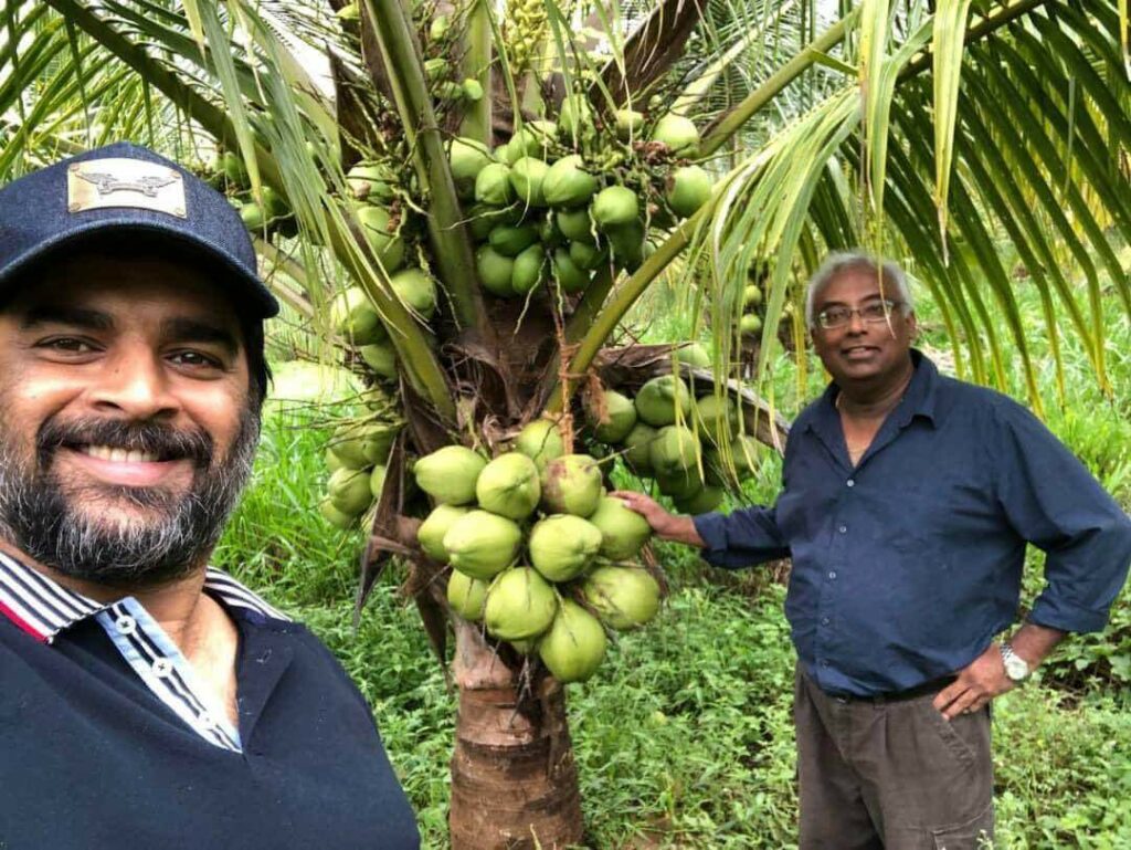
[[[681,353],[684,362],[709,366],[705,351],[689,346]],[[692,398],[680,376],[662,375],[646,381],[634,397],[614,389],[590,394],[586,419],[593,436],[619,453],[633,474],[655,481],[676,510],[705,514],[722,504],[727,487],[753,474],[759,444],[742,432],[729,396]],[[731,467],[734,474],[727,472]]]

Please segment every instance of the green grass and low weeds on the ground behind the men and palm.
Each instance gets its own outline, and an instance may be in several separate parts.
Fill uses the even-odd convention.
[[[1037,306],[1020,290],[1025,309]],[[1112,397],[1095,386],[1082,353],[1065,341],[1068,395],[1047,422],[1116,497],[1131,505],[1131,327],[1114,315]],[[670,316],[670,312],[665,315]],[[930,304],[923,343],[944,350]],[[1035,315],[1035,314],[1029,314]],[[677,338],[672,320],[656,332]],[[1034,347],[1047,363],[1043,340]],[[793,415],[805,393],[784,358],[774,372]],[[1020,392],[1019,375],[1010,389]],[[378,583],[356,633],[353,592],[360,535],[317,514],[326,435],[271,418],[253,484],[216,563],[307,621],[342,660],[373,707],[386,747],[416,808],[426,848],[447,847],[448,759],[455,698],[443,682],[396,568]],[[746,499],[772,500],[780,469],[767,461]],[[794,655],[782,613],[784,589],[763,570],[720,574],[683,548],[661,559],[672,595],[658,620],[624,635],[597,676],[570,686],[588,843],[594,848],[788,848],[796,796],[791,720]],[[1029,598],[1041,587],[1030,557]],[[1131,600],[1116,602],[1099,636],[1071,638],[1041,680],[995,704],[999,848],[1131,847]]]

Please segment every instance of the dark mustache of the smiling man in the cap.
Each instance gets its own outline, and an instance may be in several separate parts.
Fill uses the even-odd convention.
[[[171,428],[152,420],[86,418],[69,422],[46,420],[36,435],[40,465],[46,467],[58,448],[111,446],[128,452],[145,452],[159,461],[191,460],[196,466],[211,465],[214,444],[204,430]]]

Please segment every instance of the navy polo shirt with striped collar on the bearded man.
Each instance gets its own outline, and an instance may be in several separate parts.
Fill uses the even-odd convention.
[[[239,722],[136,599],[0,553],[0,847],[415,850],[369,707],[329,651],[221,570]]]

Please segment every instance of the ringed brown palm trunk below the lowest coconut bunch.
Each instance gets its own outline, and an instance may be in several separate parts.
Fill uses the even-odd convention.
[[[564,850],[581,842],[581,798],[564,688],[526,680],[476,626],[452,618],[459,689],[451,757],[452,850]]]

